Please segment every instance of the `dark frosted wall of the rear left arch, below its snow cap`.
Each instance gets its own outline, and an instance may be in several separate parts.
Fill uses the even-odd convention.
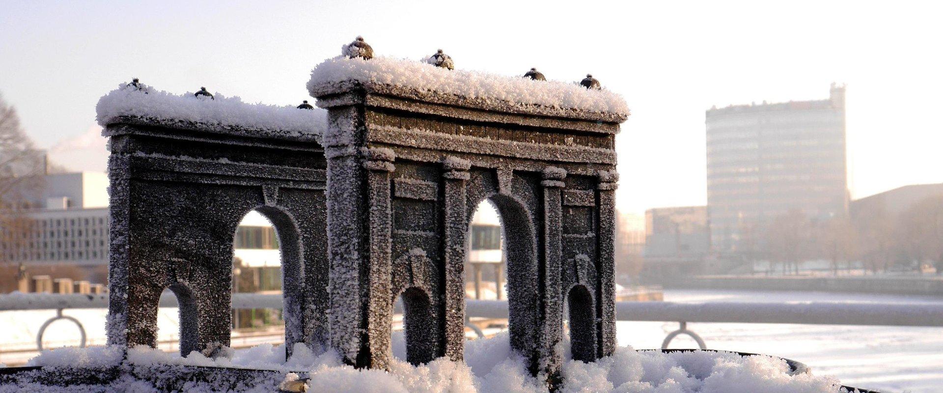
[[[287,341],[325,342],[320,144],[140,119],[110,124],[105,134],[111,138],[109,343],[155,346],[157,302],[170,288],[181,304],[180,352],[214,354],[227,346],[233,236],[251,210],[273,221],[279,237]]]

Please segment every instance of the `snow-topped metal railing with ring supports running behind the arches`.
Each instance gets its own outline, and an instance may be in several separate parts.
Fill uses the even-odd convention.
[[[234,309],[282,308],[282,295],[234,293]],[[399,304],[397,304],[398,306]],[[177,306],[173,294],[160,297],[161,307]],[[73,321],[82,333],[84,328],[77,319],[65,316],[62,311],[72,308],[107,308],[108,294],[10,294],[0,295],[0,311],[10,310],[57,310],[56,317],[47,320],[37,336],[37,347],[42,349],[44,328],[57,319]],[[397,307],[397,312],[402,310]],[[468,318],[507,318],[507,301],[465,301]],[[943,304],[902,303],[670,303],[670,302],[617,302],[616,318],[623,321],[678,321],[680,328],[670,332],[662,342],[667,348],[676,336],[687,335],[706,349],[701,336],[688,329],[687,322],[719,323],[786,323],[815,325],[870,325],[870,326],[943,326]],[[467,320],[467,319],[466,319]],[[479,336],[480,329],[470,323]]]

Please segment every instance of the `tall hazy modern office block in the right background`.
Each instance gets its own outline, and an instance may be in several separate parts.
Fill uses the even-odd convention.
[[[844,86],[825,100],[712,107],[705,123],[714,251],[736,253],[790,210],[847,214]]]

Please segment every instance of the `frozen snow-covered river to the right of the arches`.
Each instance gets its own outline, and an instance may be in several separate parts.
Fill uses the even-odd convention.
[[[943,298],[826,292],[666,290],[666,302],[937,303]],[[677,322],[619,322],[620,345],[653,349]],[[943,327],[688,323],[708,349],[766,353],[798,360],[815,374],[885,392],[943,391]],[[678,336],[671,348],[697,348]]]

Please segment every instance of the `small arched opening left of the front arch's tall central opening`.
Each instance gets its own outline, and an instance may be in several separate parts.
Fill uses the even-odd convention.
[[[431,362],[438,352],[438,321],[429,295],[422,288],[408,287],[400,295],[400,301],[403,303],[406,361],[413,365]]]

